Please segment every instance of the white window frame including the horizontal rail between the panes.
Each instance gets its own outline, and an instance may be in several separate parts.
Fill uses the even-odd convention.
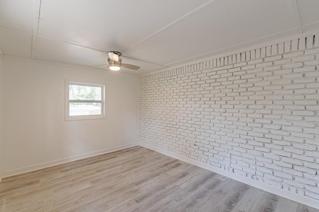
[[[92,87],[102,87],[101,101],[100,100],[70,100],[69,98],[69,85],[82,85]],[[65,80],[65,106],[64,106],[64,120],[92,120],[92,119],[103,119],[106,118],[106,85],[102,83],[94,83],[80,80]],[[70,102],[71,101],[71,102]],[[72,102],[83,102],[83,103],[101,103],[101,115],[72,115],[70,116],[70,103]]]

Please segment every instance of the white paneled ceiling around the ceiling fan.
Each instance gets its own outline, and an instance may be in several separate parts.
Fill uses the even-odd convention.
[[[145,74],[319,29],[319,0],[0,0],[5,55]],[[133,59],[135,58],[135,59]],[[101,65],[101,66],[99,66]]]

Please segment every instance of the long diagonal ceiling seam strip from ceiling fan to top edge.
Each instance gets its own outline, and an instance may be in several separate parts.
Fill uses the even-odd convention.
[[[221,0],[210,0],[210,1],[208,1],[207,3],[205,3],[205,4],[203,4],[203,5],[199,6],[199,7],[197,7],[196,9],[194,9],[194,10],[188,12],[187,14],[181,16],[180,18],[178,18],[178,19],[174,20],[173,22],[169,23],[168,25],[164,26],[164,27],[161,28],[160,30],[158,30],[158,31],[156,31],[156,32],[154,32],[154,33],[152,33],[151,35],[147,36],[146,38],[144,38],[144,39],[138,41],[137,43],[133,44],[132,46],[130,46],[130,47],[124,49],[122,52],[125,52],[125,51],[127,51],[128,49],[133,48],[134,46],[136,46],[136,45],[142,43],[143,41],[146,41],[146,40],[148,40],[148,39],[154,37],[154,36],[157,35],[157,34],[160,34],[161,32],[165,31],[166,29],[168,29],[168,28],[174,26],[175,24],[177,24],[177,23],[183,21],[184,19],[186,19],[186,18],[188,18],[188,17],[190,17],[190,16],[196,14],[197,12],[203,10],[204,8],[206,8],[206,7],[208,7],[208,6],[211,6],[211,5],[213,5],[213,4],[215,4],[215,3],[219,2],[219,1],[221,1]]]

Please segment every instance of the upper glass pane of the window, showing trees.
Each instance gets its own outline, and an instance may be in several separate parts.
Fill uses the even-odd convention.
[[[69,99],[102,100],[102,87],[69,84]]]

